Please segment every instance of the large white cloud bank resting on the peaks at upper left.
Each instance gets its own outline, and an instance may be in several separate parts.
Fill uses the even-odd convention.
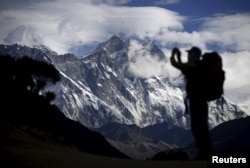
[[[0,39],[4,42],[8,34],[17,34],[14,31],[25,26],[26,30],[17,39],[7,41],[31,44],[34,40],[26,36],[36,34],[44,45],[65,53],[76,43],[104,41],[114,33],[145,38],[153,37],[163,29],[183,29],[184,17],[173,11],[158,7],[114,6],[114,2],[128,1],[43,0],[20,9],[2,10]]]

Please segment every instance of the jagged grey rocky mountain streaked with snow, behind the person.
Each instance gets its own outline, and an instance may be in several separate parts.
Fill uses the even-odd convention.
[[[168,61],[155,44],[141,45],[150,56]],[[184,114],[184,87],[176,82],[182,80],[160,76],[136,77],[129,71],[136,57],[129,56],[129,41],[118,35],[100,44],[84,58],[72,54],[57,55],[44,46],[1,45],[0,51],[52,62],[62,76],[60,83],[50,88],[57,95],[55,104],[68,118],[85,126],[97,128],[117,122],[145,127],[167,122],[169,127],[190,128],[189,116]],[[246,113],[226,98],[219,106],[215,102],[210,103],[211,128],[244,116]]]

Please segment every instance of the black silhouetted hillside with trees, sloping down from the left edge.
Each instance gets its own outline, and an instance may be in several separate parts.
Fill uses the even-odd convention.
[[[55,95],[44,91],[44,88],[60,80],[60,74],[53,65],[28,57],[15,59],[0,56],[0,76],[1,130],[6,125],[2,123],[25,127],[26,132],[38,129],[47,135],[36,134],[42,141],[47,141],[46,137],[53,137],[91,154],[128,158],[112,147],[101,134],[66,118],[55,105],[51,105]],[[1,135],[2,139],[4,135]]]

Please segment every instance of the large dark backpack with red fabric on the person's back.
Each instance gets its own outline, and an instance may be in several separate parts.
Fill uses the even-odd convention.
[[[217,52],[205,53],[196,63],[194,75],[190,80],[191,92],[206,101],[219,99],[223,95],[225,71],[222,58]]]

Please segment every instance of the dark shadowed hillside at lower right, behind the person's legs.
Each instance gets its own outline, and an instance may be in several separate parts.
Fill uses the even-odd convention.
[[[224,122],[210,131],[213,153],[222,157],[250,158],[250,117]],[[192,143],[185,148],[162,151],[150,160],[187,160],[196,157]]]

